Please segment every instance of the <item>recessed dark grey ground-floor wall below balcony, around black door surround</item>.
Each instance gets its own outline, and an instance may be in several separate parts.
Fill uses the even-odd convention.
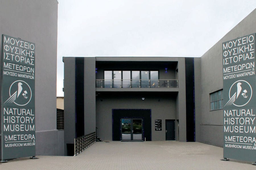
[[[177,92],[100,93],[96,97],[97,136],[112,140],[112,109],[151,109],[152,141],[164,141],[165,120],[176,119],[176,96]],[[162,120],[162,131],[155,131],[155,119]]]

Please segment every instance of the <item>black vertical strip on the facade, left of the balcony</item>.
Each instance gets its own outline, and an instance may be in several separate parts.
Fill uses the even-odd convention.
[[[84,58],[76,58],[75,114],[76,138],[84,135]]]

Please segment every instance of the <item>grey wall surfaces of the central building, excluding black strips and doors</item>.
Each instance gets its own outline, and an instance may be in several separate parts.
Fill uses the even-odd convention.
[[[75,58],[64,57],[65,144],[73,143],[75,129]],[[134,65],[131,67],[131,63]],[[149,67],[147,64],[152,64]],[[154,65],[156,64],[156,65]],[[166,66],[167,64],[167,66]],[[98,73],[95,74],[95,67]],[[165,68],[168,68],[168,73]],[[179,88],[95,88],[105,69],[155,69],[160,78],[179,78]],[[176,73],[178,69],[178,75]],[[145,101],[142,102],[142,97]],[[102,100],[102,101],[101,101]],[[159,100],[159,101],[158,101]],[[67,110],[68,109],[68,110]],[[185,58],[168,57],[85,57],[84,130],[103,140],[112,140],[112,109],[152,109],[152,140],[165,140],[165,120],[179,120],[176,140],[186,141]],[[71,115],[67,115],[71,114]],[[154,130],[154,119],[162,119],[162,131]],[[70,128],[68,128],[70,127]],[[179,136],[178,136],[179,134]],[[66,152],[65,152],[66,153]]]

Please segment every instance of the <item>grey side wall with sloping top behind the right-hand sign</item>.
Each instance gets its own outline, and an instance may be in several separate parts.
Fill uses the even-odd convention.
[[[210,111],[209,94],[223,88],[222,42],[256,32],[256,9],[230,30],[201,57],[200,141],[223,146],[223,109]]]

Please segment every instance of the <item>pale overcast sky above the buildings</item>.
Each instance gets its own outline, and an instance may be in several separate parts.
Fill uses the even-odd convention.
[[[58,1],[57,96],[63,56],[201,57],[256,8],[255,0]]]

